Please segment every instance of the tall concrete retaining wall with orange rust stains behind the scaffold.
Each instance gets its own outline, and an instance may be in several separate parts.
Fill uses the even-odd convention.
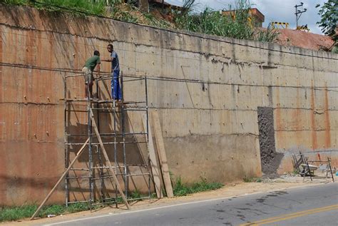
[[[337,159],[337,55],[23,7],[0,11],[1,204],[42,200],[61,175],[63,76],[80,71],[95,49],[108,57],[112,42],[124,74],[147,76],[170,171],[185,182],[261,175],[258,106],[274,108],[278,152],[320,150]],[[83,96],[81,79],[71,87],[69,98]],[[103,87],[108,96],[108,82]],[[141,92],[125,86],[127,100]],[[285,156],[281,172],[292,170]],[[63,200],[60,187],[51,202]]]

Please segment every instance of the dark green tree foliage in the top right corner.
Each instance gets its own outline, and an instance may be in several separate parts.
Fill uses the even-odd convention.
[[[317,4],[316,8],[319,6],[320,4]],[[322,32],[337,41],[335,29],[338,23],[338,1],[328,0],[320,7],[318,14],[321,16],[321,20],[317,24],[322,28]]]

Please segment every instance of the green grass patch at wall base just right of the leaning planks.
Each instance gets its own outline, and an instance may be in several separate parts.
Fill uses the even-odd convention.
[[[222,183],[212,182],[208,183],[205,178],[201,178],[200,181],[193,183],[192,185],[187,185],[182,182],[180,177],[176,178],[176,183],[173,188],[175,196],[185,196],[188,194],[193,194],[195,192],[204,192],[207,190],[216,190],[222,188],[224,185]]]

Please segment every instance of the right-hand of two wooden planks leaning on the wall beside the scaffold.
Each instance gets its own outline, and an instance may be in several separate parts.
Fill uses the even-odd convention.
[[[162,129],[160,128],[160,118],[158,117],[158,111],[152,112],[152,119],[154,124],[156,146],[158,148],[158,157],[160,158],[160,166],[162,170],[165,191],[168,197],[173,197],[173,186],[171,185],[167,155],[165,154]]]

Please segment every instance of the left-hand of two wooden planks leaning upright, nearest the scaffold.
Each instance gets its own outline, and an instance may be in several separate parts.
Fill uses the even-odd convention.
[[[147,115],[143,115],[143,128],[145,133],[147,132]],[[153,173],[153,180],[155,183],[155,191],[158,198],[163,197],[163,192],[160,185],[160,171],[158,170],[158,162],[156,161],[155,148],[153,143],[153,136],[150,129],[150,122],[148,120],[148,152],[150,158],[150,168]]]

